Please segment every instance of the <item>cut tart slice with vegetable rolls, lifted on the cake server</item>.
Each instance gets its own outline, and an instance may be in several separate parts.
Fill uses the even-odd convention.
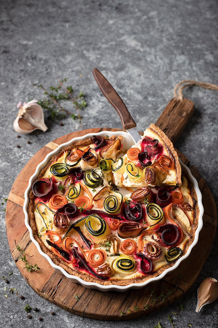
[[[112,165],[112,181],[120,187],[181,185],[181,167],[170,139],[154,124],[143,138]]]

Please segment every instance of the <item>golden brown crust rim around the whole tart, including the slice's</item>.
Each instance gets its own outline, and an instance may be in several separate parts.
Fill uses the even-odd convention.
[[[166,143],[166,145],[168,146],[169,150],[173,153],[173,156],[175,157],[175,159],[177,158],[178,160],[178,155],[177,153],[174,151],[173,146],[171,141],[167,138],[163,138],[163,136],[165,136],[163,134],[163,136],[161,135],[162,133],[160,133],[158,130],[160,130],[159,128],[155,127],[154,124],[151,124],[150,127],[151,130],[154,130],[155,133],[158,133],[158,135],[160,135],[160,137],[164,140],[164,142]],[[161,130],[160,130],[161,131]],[[162,132],[162,131],[161,131]],[[115,137],[115,136],[113,136]],[[111,137],[112,138],[112,137]],[[169,140],[169,142],[168,142]],[[166,142],[167,141],[167,142]],[[51,160],[49,161],[49,163],[46,165],[46,167],[40,172],[40,174],[38,175],[37,178],[42,177],[45,174],[45,171],[49,168],[49,166],[51,165],[51,163],[53,161],[55,161],[57,158],[59,158],[59,156],[61,156],[64,152],[66,152],[67,150],[70,150],[74,147],[78,147],[78,146],[86,146],[91,144],[91,139],[85,139],[85,140],[81,140],[79,142],[75,142],[73,143],[70,147],[66,147],[64,149],[62,149],[60,151],[60,153],[58,155],[55,155],[51,158]],[[179,165],[180,167],[180,165]],[[179,174],[179,169],[178,169],[178,174]],[[184,173],[183,173],[184,174]],[[181,175],[181,167],[180,167],[180,175]],[[184,174],[186,176],[186,174]],[[186,176],[186,178],[188,179],[188,177]],[[189,181],[189,180],[188,180]],[[191,192],[191,196],[195,199],[195,203],[194,203],[194,210],[195,210],[195,218],[194,218],[194,223],[192,225],[192,229],[191,229],[191,238],[190,240],[187,242],[185,249],[182,252],[182,255],[185,255],[188,251],[189,246],[191,245],[191,243],[193,242],[194,239],[194,235],[195,235],[195,230],[197,228],[198,225],[198,216],[199,216],[199,207],[197,204],[197,195],[196,192],[194,190],[193,184],[189,181],[189,187],[190,187],[190,192]],[[125,286],[128,285],[130,283],[143,283],[144,281],[153,278],[153,277],[157,277],[159,276],[163,271],[165,271],[167,268],[173,266],[175,262],[173,263],[167,263],[166,265],[164,265],[163,267],[161,267],[159,270],[157,270],[156,272],[154,272],[152,275],[146,276],[144,278],[137,278],[137,279],[126,279],[126,280],[116,280],[116,281],[112,281],[112,280],[107,280],[107,281],[102,281],[100,279],[97,279],[95,277],[92,276],[88,276],[87,274],[82,274],[81,272],[78,272],[76,270],[73,270],[72,268],[70,268],[68,265],[66,265],[63,261],[61,261],[57,256],[55,256],[54,253],[52,253],[42,242],[42,240],[37,236],[38,235],[38,230],[36,227],[36,222],[35,222],[35,215],[34,215],[34,195],[32,193],[32,191],[30,191],[29,193],[29,204],[28,204],[28,216],[29,216],[29,221],[30,221],[30,227],[33,231],[34,234],[34,238],[35,240],[39,243],[42,251],[47,254],[51,260],[58,266],[61,266],[64,270],[66,270],[69,274],[76,276],[76,277],[80,277],[82,278],[84,281],[89,281],[89,282],[97,282],[100,283],[102,285],[111,285],[111,284],[116,284],[116,285],[120,285],[120,286]]]

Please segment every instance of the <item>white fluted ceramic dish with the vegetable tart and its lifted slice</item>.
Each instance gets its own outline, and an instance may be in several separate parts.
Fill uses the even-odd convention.
[[[25,224],[39,253],[87,288],[126,291],[187,258],[203,226],[196,179],[154,124],[73,138],[29,179]]]

